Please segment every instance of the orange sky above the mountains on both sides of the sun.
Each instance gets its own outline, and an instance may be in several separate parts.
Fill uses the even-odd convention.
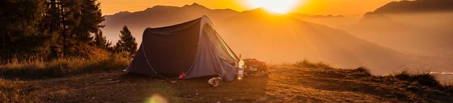
[[[104,14],[120,11],[142,11],[155,5],[183,6],[198,3],[209,9],[233,9],[244,11],[254,9],[246,0],[99,0]],[[296,0],[289,12],[311,15],[363,15],[366,12],[399,0]]]

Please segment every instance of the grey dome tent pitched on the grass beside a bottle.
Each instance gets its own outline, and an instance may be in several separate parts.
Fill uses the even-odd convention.
[[[181,24],[146,28],[137,54],[124,70],[155,77],[186,79],[219,75],[236,76],[239,59],[202,16]]]

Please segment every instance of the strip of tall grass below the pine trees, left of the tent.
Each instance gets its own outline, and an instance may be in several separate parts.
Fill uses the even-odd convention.
[[[111,70],[122,70],[130,63],[131,58],[121,54],[111,54],[98,49],[90,57],[69,57],[45,61],[34,57],[21,61],[13,58],[0,65],[0,74],[5,78],[46,78],[95,73]]]

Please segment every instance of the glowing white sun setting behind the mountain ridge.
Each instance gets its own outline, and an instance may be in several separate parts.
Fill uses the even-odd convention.
[[[296,0],[247,0],[253,8],[263,7],[277,13],[288,13]]]

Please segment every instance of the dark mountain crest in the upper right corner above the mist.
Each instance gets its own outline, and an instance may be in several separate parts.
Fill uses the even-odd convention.
[[[402,0],[390,2],[365,15],[453,11],[453,0]]]

